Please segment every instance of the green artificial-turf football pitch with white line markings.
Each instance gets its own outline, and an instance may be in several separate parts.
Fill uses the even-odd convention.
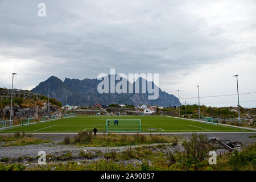
[[[0,133],[14,133],[24,131],[26,133],[77,133],[97,128],[99,132],[106,131],[106,119],[141,119],[142,132],[181,133],[181,132],[245,132],[252,131],[232,126],[212,125],[182,118],[166,116],[76,116],[62,118],[55,121],[39,122],[31,125],[16,126],[10,129],[0,130]],[[114,126],[122,129],[122,124]],[[137,124],[138,125],[138,124]],[[129,130],[127,130],[129,131]]]

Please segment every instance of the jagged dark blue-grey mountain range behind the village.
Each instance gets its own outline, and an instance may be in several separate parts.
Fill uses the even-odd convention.
[[[109,75],[110,77],[110,75]],[[122,78],[125,79],[125,78]],[[85,78],[84,80],[65,78],[64,81],[60,80],[55,76],[49,77],[46,81],[40,82],[38,86],[31,90],[31,92],[43,94],[49,97],[55,98],[60,101],[63,105],[94,105],[100,103],[101,105],[109,104],[129,104],[129,105],[158,105],[158,106],[180,106],[180,102],[177,97],[172,94],[163,92],[159,88],[159,97],[156,100],[148,100],[148,92],[142,93],[142,79],[140,79],[140,90],[139,93],[98,93],[97,87],[101,80]],[[127,81],[125,79],[125,81]],[[145,81],[145,80],[144,80]],[[115,85],[119,81],[115,81]],[[146,84],[153,84],[154,82],[145,81]],[[127,81],[127,85],[129,81]],[[154,85],[156,86],[156,85]],[[153,86],[153,88],[154,88]],[[127,86],[128,87],[128,86]],[[122,87],[121,87],[122,88]],[[135,82],[133,83],[135,88]],[[110,90],[110,84],[109,84]]]

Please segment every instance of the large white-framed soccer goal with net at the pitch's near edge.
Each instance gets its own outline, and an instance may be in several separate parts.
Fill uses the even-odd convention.
[[[107,119],[106,132],[142,132],[141,119]]]

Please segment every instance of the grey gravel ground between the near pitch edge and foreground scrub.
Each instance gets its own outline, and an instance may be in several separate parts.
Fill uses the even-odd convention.
[[[169,134],[175,136],[181,136],[184,139],[188,139],[191,134]],[[216,137],[222,140],[234,140],[241,142],[243,146],[249,146],[250,144],[254,144],[256,142],[255,138],[249,138],[249,136],[255,135],[255,133],[222,133],[222,134],[212,134],[208,133],[207,137]],[[75,135],[69,135],[69,137],[74,137]],[[67,151],[71,151],[73,155],[78,155],[81,150],[86,151],[95,151],[100,150],[102,152],[109,152],[111,150],[123,151],[126,150],[128,146],[123,147],[75,147],[69,145],[59,144],[60,141],[63,140],[65,135],[34,135],[36,138],[42,139],[49,139],[53,140],[51,143],[44,143],[44,144],[37,144],[37,145],[27,145],[27,146],[11,146],[11,147],[0,147],[0,158],[18,158],[19,156],[28,156],[28,157],[36,157],[38,156],[39,151],[45,151],[46,154],[52,155],[62,155],[65,154]],[[154,146],[158,144],[151,144],[150,146]],[[140,145],[140,146],[147,146],[147,145]],[[139,147],[139,146],[131,146]]]

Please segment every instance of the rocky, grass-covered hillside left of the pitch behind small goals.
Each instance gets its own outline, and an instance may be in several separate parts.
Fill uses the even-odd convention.
[[[10,89],[0,88],[0,121],[10,119]],[[34,94],[28,90],[14,89],[13,120],[19,123],[24,118],[41,118],[47,115],[48,98]],[[49,99],[49,114],[62,115],[61,103],[53,98]]]

